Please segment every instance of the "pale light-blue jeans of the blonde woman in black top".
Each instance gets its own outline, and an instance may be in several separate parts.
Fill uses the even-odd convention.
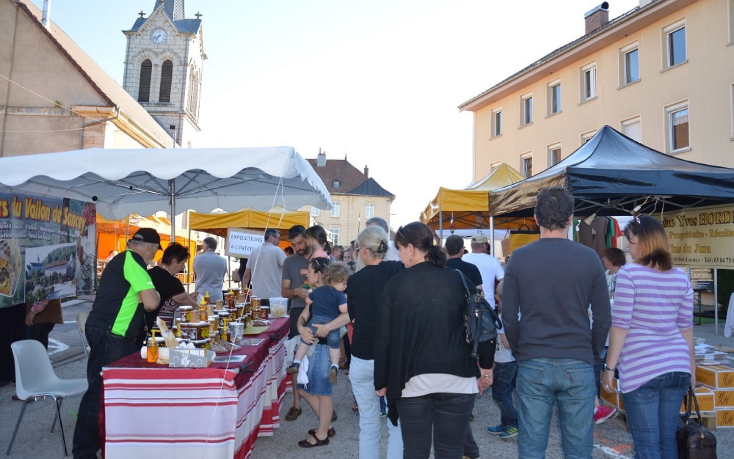
[[[379,397],[374,393],[374,360],[363,360],[352,355],[349,382],[360,408],[360,459],[379,458],[380,427]],[[388,459],[403,457],[403,436],[400,422],[394,426],[388,421]]]

